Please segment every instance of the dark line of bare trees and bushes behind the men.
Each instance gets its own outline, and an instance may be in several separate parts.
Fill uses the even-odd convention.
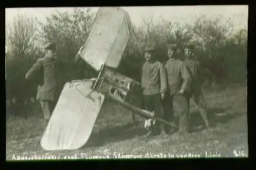
[[[60,62],[61,90],[66,81],[89,79],[97,73],[85,62],[74,62],[74,56],[86,41],[94,21],[88,8],[59,12],[42,23],[37,18],[18,14],[6,27],[6,97],[7,107],[20,109],[34,103],[38,84],[25,80],[25,73],[34,62],[43,57],[41,45],[55,41]],[[181,25],[168,19],[143,19],[143,27],[131,28],[131,38],[119,68],[121,73],[140,81],[144,62],[142,50],[146,45],[158,47],[159,61],[167,60],[165,42],[174,42],[183,55],[184,45],[193,42],[194,54],[206,73],[205,84],[213,82],[244,83],[247,80],[247,30],[232,34],[232,22],[220,24],[220,17],[201,16],[193,24]],[[130,70],[133,71],[130,71]]]

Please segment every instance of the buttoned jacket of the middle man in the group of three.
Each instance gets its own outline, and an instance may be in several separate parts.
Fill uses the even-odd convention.
[[[169,59],[165,64],[165,68],[168,74],[168,90],[171,95],[176,94],[181,89],[184,91],[190,89],[189,83],[191,76],[183,61],[176,58]]]

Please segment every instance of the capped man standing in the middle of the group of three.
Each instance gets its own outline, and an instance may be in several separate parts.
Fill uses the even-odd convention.
[[[190,109],[190,96],[188,93],[190,74],[184,62],[177,58],[177,45],[168,44],[167,53],[168,61],[165,64],[168,75],[168,93],[164,100],[164,117],[165,120],[172,118],[175,125],[179,126],[179,132],[188,133],[188,113]],[[180,113],[174,113],[173,102],[180,106]],[[169,122],[173,122],[169,120]],[[168,129],[169,130],[169,129]]]

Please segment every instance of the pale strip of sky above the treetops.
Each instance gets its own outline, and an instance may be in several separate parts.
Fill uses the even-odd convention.
[[[191,24],[200,15],[209,17],[222,15],[222,22],[231,19],[235,30],[247,28],[248,26],[248,5],[214,5],[214,6],[124,6],[121,7],[130,15],[130,19],[136,27],[143,25],[142,17],[158,21],[158,18],[171,19],[181,24]],[[37,17],[42,22],[47,22],[46,17],[58,11],[72,11],[74,8],[5,8],[5,23],[14,21],[18,13],[26,13]],[[92,12],[97,12],[98,7],[92,7]]]

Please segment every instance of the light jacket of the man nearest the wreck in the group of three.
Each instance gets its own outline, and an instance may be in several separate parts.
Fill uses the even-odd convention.
[[[150,95],[167,91],[167,74],[162,63],[146,61],[142,66],[141,86],[143,94]]]

